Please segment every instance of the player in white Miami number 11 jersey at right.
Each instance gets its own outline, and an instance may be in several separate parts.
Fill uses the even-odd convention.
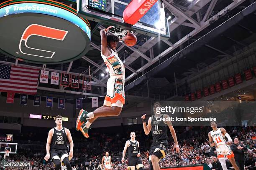
[[[217,128],[217,122],[211,121],[210,125],[212,127],[212,131],[208,133],[210,146],[216,147],[217,157],[221,163],[223,170],[227,170],[226,161],[224,155],[229,159],[235,170],[239,170],[236,165],[236,161],[234,158],[234,154],[228,145],[231,145],[232,139],[230,135],[226,132],[224,128]],[[225,137],[228,138],[228,142],[226,143]]]

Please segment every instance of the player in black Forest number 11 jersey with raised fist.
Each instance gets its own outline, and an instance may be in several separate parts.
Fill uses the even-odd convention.
[[[170,132],[172,133],[172,138],[174,139],[174,150],[176,151],[176,153],[179,153],[179,144],[177,141],[175,130],[172,126],[172,122],[163,121],[161,118],[166,118],[168,117],[168,115],[157,114],[157,107],[162,107],[159,102],[154,103],[154,115],[149,117],[148,125],[146,125],[146,114],[141,116],[145,134],[148,135],[151,131],[153,136],[153,143],[151,145],[151,150],[149,154],[149,170],[160,170],[158,162],[161,158],[165,157],[168,148],[168,127],[170,129]]]

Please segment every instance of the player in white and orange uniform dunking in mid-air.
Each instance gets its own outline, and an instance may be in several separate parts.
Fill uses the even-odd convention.
[[[76,129],[80,130],[85,138],[89,138],[88,128],[97,117],[118,116],[125,103],[124,78],[125,68],[116,52],[119,38],[115,35],[106,36],[107,29],[100,31],[101,57],[108,67],[110,78],[107,82],[107,95],[103,106],[93,112],[80,110],[77,117]],[[90,119],[90,120],[89,120]],[[88,120],[88,121],[87,121]]]

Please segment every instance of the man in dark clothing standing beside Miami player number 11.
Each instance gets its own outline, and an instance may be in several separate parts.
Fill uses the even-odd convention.
[[[236,165],[240,170],[244,170],[244,151],[247,151],[246,146],[241,144],[239,145],[238,138],[235,138],[234,143],[230,146],[230,148],[235,155]]]

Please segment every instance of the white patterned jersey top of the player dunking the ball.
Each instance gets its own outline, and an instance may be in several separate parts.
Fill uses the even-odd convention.
[[[118,53],[111,49],[111,55],[106,57],[100,52],[102,59],[108,67],[109,75],[120,78],[125,77],[125,68],[123,62],[118,57]]]

